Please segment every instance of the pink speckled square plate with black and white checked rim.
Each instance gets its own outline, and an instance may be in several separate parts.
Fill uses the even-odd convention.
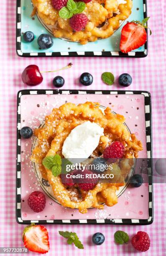
[[[66,102],[75,104],[86,101],[99,102],[101,108],[125,116],[129,131],[143,143],[139,159],[148,159],[147,182],[138,188],[129,182],[118,192],[118,203],[105,205],[104,210],[88,209],[81,214],[77,209],[61,206],[51,195],[51,187],[42,180],[30,161],[34,136],[20,138],[23,126],[38,128],[53,108]],[[153,222],[152,184],[152,132],[151,95],[145,91],[98,91],[98,90],[21,90],[18,92],[17,119],[17,172],[16,172],[16,220],[20,224],[133,224],[147,225]],[[134,168],[133,168],[134,172]],[[42,212],[33,212],[27,204],[33,191],[46,195],[46,207]]]

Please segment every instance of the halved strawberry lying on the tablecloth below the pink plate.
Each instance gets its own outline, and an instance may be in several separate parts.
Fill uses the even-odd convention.
[[[46,253],[49,251],[49,234],[42,225],[31,223],[23,230],[24,246],[33,252]]]

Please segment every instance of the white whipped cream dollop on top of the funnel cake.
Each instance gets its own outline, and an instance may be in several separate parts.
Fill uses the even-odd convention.
[[[86,121],[75,127],[64,141],[62,154],[65,158],[88,158],[97,148],[104,128]]]

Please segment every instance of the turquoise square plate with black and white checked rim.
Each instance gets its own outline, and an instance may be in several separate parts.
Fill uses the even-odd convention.
[[[85,45],[61,38],[53,38],[54,45],[47,50],[39,49],[37,38],[40,34],[49,33],[49,31],[41,24],[37,16],[31,18],[32,10],[31,0],[17,0],[16,46],[19,56],[119,56],[135,58],[147,56],[147,43],[128,54],[123,54],[119,49],[121,30],[125,23],[131,20],[143,20],[147,17],[146,0],[133,0],[131,15],[111,37],[88,42]],[[27,43],[23,40],[23,33],[26,31],[34,33],[33,42]]]

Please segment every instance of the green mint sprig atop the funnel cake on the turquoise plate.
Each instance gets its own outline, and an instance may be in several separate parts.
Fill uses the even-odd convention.
[[[68,0],[67,6],[59,10],[59,16],[63,19],[69,19],[74,14],[82,13],[86,4],[84,2],[74,2],[74,0]]]

